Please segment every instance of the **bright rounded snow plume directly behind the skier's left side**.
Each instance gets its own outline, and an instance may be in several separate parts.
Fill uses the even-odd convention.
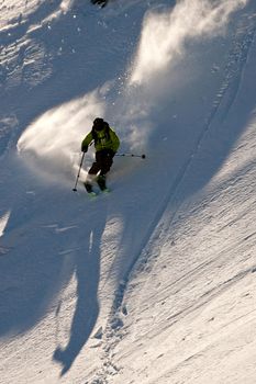
[[[96,116],[103,115],[99,92],[76,99],[45,112],[18,142],[18,150],[29,165],[47,177],[70,179],[77,172],[80,146]]]

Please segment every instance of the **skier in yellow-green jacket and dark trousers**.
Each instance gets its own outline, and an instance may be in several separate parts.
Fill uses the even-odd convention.
[[[87,180],[84,183],[88,193],[93,193],[92,183],[94,180],[97,180],[101,191],[108,191],[105,174],[109,172],[113,163],[113,157],[120,146],[118,135],[101,117],[93,121],[91,132],[81,143],[81,150],[87,153],[92,142],[94,142],[96,161],[89,169]]]

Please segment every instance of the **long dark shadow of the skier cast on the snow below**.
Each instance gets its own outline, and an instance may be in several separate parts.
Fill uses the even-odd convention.
[[[81,250],[77,252],[75,260],[75,273],[77,279],[77,303],[74,313],[70,337],[65,349],[57,347],[53,360],[63,365],[63,376],[73,365],[82,347],[88,341],[96,325],[99,314],[98,285],[100,279],[100,245],[105,227],[105,207],[101,207],[101,214],[92,219],[87,219],[85,229],[78,239]]]

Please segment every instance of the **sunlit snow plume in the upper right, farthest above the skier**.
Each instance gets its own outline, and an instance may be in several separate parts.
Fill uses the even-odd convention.
[[[189,38],[222,34],[232,12],[247,0],[180,0],[170,11],[148,12],[141,35],[131,83],[169,67],[185,53]]]

